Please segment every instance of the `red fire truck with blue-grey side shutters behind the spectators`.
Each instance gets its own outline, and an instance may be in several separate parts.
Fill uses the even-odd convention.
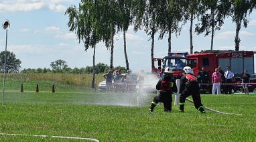
[[[234,83],[241,82],[243,70],[247,70],[248,74],[254,74],[254,52],[233,50],[205,50],[195,52],[186,56],[186,66],[193,68],[194,75],[198,76],[199,71],[204,67],[208,71],[211,80],[212,73],[215,68],[220,66],[225,72],[227,66],[231,67],[231,71],[235,74]],[[209,86],[211,88],[211,86]],[[234,92],[241,90],[241,85],[234,86]],[[249,85],[249,91],[255,90],[255,85]]]

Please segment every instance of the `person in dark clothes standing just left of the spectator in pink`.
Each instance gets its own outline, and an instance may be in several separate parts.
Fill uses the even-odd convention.
[[[200,88],[203,90],[202,92],[206,93],[206,90],[211,92],[210,86],[207,85],[210,83],[210,76],[204,67],[202,67],[202,70],[199,72],[199,76],[200,78],[198,78],[198,82],[202,83],[202,85],[200,85]]]

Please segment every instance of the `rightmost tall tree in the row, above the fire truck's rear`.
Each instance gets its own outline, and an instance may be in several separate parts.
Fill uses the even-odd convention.
[[[235,51],[239,51],[239,31],[241,29],[242,21],[243,26],[247,27],[249,22],[247,19],[247,14],[251,8],[251,3],[249,0],[231,0],[231,17],[233,22],[236,23],[236,33],[235,33]]]

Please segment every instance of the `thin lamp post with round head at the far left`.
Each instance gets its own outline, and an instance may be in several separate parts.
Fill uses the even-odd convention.
[[[5,70],[6,70],[6,52],[7,52],[7,36],[8,36],[8,29],[10,27],[10,22],[8,19],[3,22],[3,29],[6,31],[6,39],[5,39],[5,64],[3,67],[3,104],[5,104]]]

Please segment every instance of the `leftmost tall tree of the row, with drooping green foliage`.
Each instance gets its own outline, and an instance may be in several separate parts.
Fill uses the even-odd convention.
[[[68,27],[70,31],[74,31],[78,38],[78,42],[84,43],[84,48],[87,51],[88,48],[93,49],[93,76],[92,76],[92,88],[94,88],[95,82],[95,48],[102,38],[99,34],[102,33],[100,21],[101,13],[97,1],[82,1],[79,4],[78,9],[75,6],[68,7],[65,14],[68,14],[69,21]]]

